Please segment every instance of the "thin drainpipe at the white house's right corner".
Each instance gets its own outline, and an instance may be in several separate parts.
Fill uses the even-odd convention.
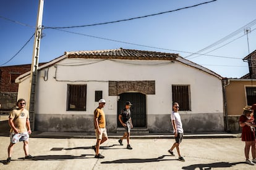
[[[224,131],[230,132],[228,127],[228,109],[227,109],[227,99],[226,99],[226,87],[230,84],[228,78],[223,78],[222,80],[222,92],[223,92],[223,105],[224,105]]]

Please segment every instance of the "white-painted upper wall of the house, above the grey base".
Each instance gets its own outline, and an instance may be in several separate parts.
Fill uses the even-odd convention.
[[[65,59],[49,68],[47,81],[45,70],[38,73],[37,114],[93,115],[98,107],[95,91],[103,91],[105,112],[116,115],[117,97],[108,95],[108,81],[152,80],[155,95],[146,96],[147,115],[171,112],[172,84],[190,86],[191,111],[180,111],[181,115],[223,113],[221,79],[177,61]],[[66,111],[67,84],[87,84],[87,111]],[[29,79],[19,84],[19,97],[26,94],[28,85]]]

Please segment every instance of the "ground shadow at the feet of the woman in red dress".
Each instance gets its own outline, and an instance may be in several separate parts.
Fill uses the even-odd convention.
[[[219,163],[208,163],[208,164],[191,164],[189,166],[183,166],[182,169],[211,169],[211,168],[231,168],[236,164],[245,164],[245,162],[237,162],[237,163],[227,163],[227,162],[219,162]]]

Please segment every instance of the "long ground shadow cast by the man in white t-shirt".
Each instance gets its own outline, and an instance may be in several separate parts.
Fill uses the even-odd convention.
[[[174,161],[178,159],[172,159],[172,160],[163,160],[165,156],[171,156],[171,155],[163,155],[159,156],[158,158],[147,158],[147,159],[139,159],[139,158],[131,158],[131,159],[122,159],[122,160],[114,160],[114,161],[103,161],[101,163],[107,164],[107,163],[151,163],[151,162],[159,162],[159,161]]]

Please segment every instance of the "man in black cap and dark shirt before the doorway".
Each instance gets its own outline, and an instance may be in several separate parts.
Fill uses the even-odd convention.
[[[122,126],[124,126],[124,129],[126,129],[126,132],[124,132],[124,136],[121,137],[121,139],[118,140],[120,145],[122,144],[122,140],[123,139],[127,139],[127,149],[132,149],[132,147],[130,147],[130,128],[133,127],[132,125],[132,118],[130,118],[130,106],[132,106],[132,104],[127,101],[125,108],[121,111],[121,113],[119,114],[119,121],[122,124]]]

